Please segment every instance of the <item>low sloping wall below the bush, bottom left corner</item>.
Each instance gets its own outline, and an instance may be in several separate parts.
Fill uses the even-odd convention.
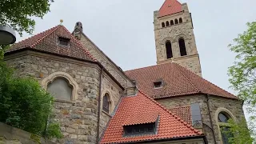
[[[35,134],[30,134],[24,130],[0,122],[0,144],[54,144]]]

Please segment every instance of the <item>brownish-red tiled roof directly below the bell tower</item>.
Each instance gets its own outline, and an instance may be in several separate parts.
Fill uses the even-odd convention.
[[[128,70],[126,74],[130,79],[135,80],[138,88],[145,91],[151,98],[168,98],[188,94],[212,94],[238,99],[233,94],[222,90],[174,62]],[[159,80],[163,81],[162,88],[154,89],[154,82]]]

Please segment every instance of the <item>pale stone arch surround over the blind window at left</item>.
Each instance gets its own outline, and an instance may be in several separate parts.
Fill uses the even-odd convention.
[[[55,72],[50,74],[48,77],[42,80],[42,87],[47,90],[47,86],[49,83],[54,82],[56,78],[65,78],[66,81],[73,87],[71,101],[74,101],[78,98],[78,83],[74,81],[74,78],[70,76],[70,74],[64,72]]]

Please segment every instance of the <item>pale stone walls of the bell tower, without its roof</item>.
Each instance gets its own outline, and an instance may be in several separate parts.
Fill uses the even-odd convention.
[[[202,76],[199,62],[198,50],[194,38],[192,18],[185,4],[182,5],[182,12],[158,17],[158,11],[154,12],[154,37],[156,45],[157,63],[172,62],[166,56],[166,42],[171,42],[174,62],[181,64],[186,69]],[[182,18],[182,23],[173,26],[162,27],[162,22]],[[178,45],[179,38],[184,38],[186,45],[186,56],[181,56]]]

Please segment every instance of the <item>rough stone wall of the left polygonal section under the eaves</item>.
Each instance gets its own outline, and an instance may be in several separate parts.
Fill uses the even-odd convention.
[[[101,72],[97,64],[28,50],[5,58],[7,64],[16,69],[18,76],[32,76],[37,78],[40,83],[55,72],[70,74],[78,83],[76,99],[54,102],[55,118],[61,123],[62,134],[64,134],[64,138],[58,143],[96,143]],[[102,80],[102,90],[110,92],[114,107],[120,98],[121,94],[119,93],[122,88],[107,74]],[[103,119],[101,129],[106,126],[108,121],[108,118]]]

